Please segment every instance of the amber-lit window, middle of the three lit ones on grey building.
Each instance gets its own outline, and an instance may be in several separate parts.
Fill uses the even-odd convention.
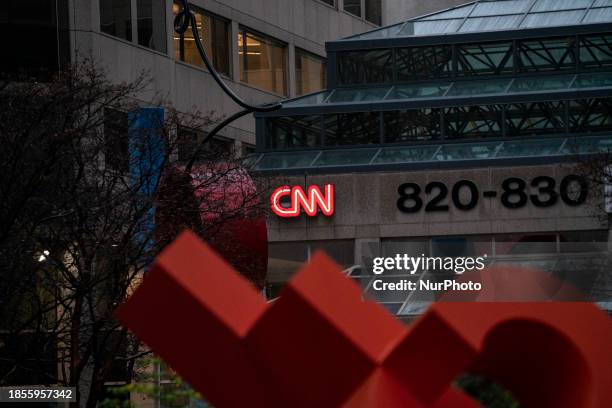
[[[287,95],[287,47],[245,29],[238,33],[240,80]]]

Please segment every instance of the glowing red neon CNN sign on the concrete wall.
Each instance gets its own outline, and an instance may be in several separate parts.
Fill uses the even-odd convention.
[[[307,195],[300,186],[281,186],[270,196],[272,211],[279,217],[290,218],[299,216],[300,210],[304,210],[306,215],[314,217],[320,209],[323,215],[329,217],[334,213],[334,185],[325,184],[323,190],[325,193],[322,193],[318,186],[310,186]],[[280,200],[283,197],[291,198],[289,207],[281,205]]]

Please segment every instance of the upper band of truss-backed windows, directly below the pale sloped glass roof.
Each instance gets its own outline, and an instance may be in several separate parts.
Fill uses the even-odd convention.
[[[340,85],[612,67],[612,34],[338,53]]]

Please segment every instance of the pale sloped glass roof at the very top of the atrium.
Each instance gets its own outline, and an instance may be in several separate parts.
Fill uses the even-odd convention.
[[[612,22],[610,0],[478,0],[344,40]]]

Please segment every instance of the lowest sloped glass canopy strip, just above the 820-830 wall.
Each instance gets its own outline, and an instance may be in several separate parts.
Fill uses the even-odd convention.
[[[316,168],[329,170],[334,167],[355,166],[367,170],[380,165],[440,164],[538,156],[559,158],[598,153],[612,153],[612,137],[542,138],[300,152],[276,151],[251,156],[249,162],[256,171]]]

